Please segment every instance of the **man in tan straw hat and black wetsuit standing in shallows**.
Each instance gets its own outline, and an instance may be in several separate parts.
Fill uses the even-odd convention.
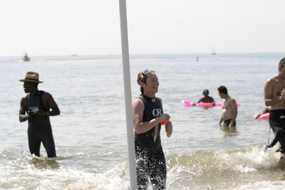
[[[56,147],[53,141],[53,132],[49,116],[57,116],[61,113],[53,96],[46,91],[39,91],[38,73],[27,72],[24,82],[24,91],[27,93],[21,99],[19,120],[28,120],[28,148],[31,154],[40,156],[41,142],[46,149],[48,157],[56,157]],[[51,111],[50,111],[51,109]]]

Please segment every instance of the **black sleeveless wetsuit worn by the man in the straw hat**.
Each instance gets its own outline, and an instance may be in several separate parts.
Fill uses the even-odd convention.
[[[38,107],[38,109],[43,111],[49,111],[43,108],[41,100],[42,94],[43,91],[38,91],[35,96],[31,96],[31,94],[26,96],[27,113],[31,107]],[[53,141],[53,132],[49,116],[34,115],[28,119],[28,148],[31,154],[40,156],[41,142],[43,142],[48,157],[56,157],[56,148]]]

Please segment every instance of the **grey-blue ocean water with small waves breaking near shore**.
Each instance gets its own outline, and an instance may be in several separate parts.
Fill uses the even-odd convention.
[[[199,61],[196,57],[199,56]],[[277,74],[281,53],[175,54],[130,57],[132,97],[136,77],[156,71],[164,111],[173,134],[161,131],[167,161],[167,189],[284,189],[285,161],[263,148],[268,121],[252,119],[264,109],[264,84]],[[32,56],[0,58],[0,189],[128,189],[123,66],[120,56]],[[60,116],[51,117],[56,159],[28,151],[27,122],[19,122],[26,71],[40,74],[39,89],[53,95]],[[241,104],[237,127],[219,127],[220,107],[184,107],[202,91],[227,86]],[[151,186],[149,189],[152,189]]]

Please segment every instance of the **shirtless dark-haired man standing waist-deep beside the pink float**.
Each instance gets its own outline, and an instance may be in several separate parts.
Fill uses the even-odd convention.
[[[223,126],[236,126],[237,102],[227,94],[226,86],[219,86],[218,91],[221,99],[224,99],[222,102],[222,116],[221,119],[219,119],[219,126],[222,126],[222,121],[224,121]]]

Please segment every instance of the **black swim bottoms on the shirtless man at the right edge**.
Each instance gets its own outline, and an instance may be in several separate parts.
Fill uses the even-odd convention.
[[[267,148],[273,147],[278,141],[280,143],[279,151],[285,152],[285,109],[275,109],[269,111],[269,124],[274,132],[275,138]]]

